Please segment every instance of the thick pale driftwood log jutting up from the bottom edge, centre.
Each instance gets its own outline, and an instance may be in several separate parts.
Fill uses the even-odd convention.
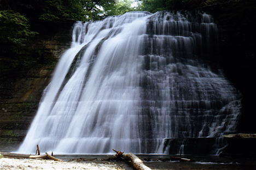
[[[113,149],[114,150],[114,149]],[[144,165],[143,161],[139,159],[136,155],[132,153],[123,153],[121,151],[114,150],[117,154],[114,155],[114,159],[125,159],[126,161],[131,161],[132,165],[137,170],[151,170],[149,167]]]

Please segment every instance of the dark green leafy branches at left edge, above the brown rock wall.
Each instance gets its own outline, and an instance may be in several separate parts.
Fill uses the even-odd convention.
[[[34,59],[28,57],[28,40],[37,33],[30,31],[28,19],[11,10],[0,11],[0,79],[18,67],[27,67]]]

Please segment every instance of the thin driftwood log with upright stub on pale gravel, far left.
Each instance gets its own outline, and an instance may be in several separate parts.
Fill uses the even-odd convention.
[[[45,160],[62,161],[60,159],[57,159],[56,157],[49,155],[48,153],[45,153],[46,155],[29,155],[29,154],[15,154],[15,153],[0,152],[0,154],[5,157],[13,157],[13,158],[27,158],[27,159],[41,158]]]

